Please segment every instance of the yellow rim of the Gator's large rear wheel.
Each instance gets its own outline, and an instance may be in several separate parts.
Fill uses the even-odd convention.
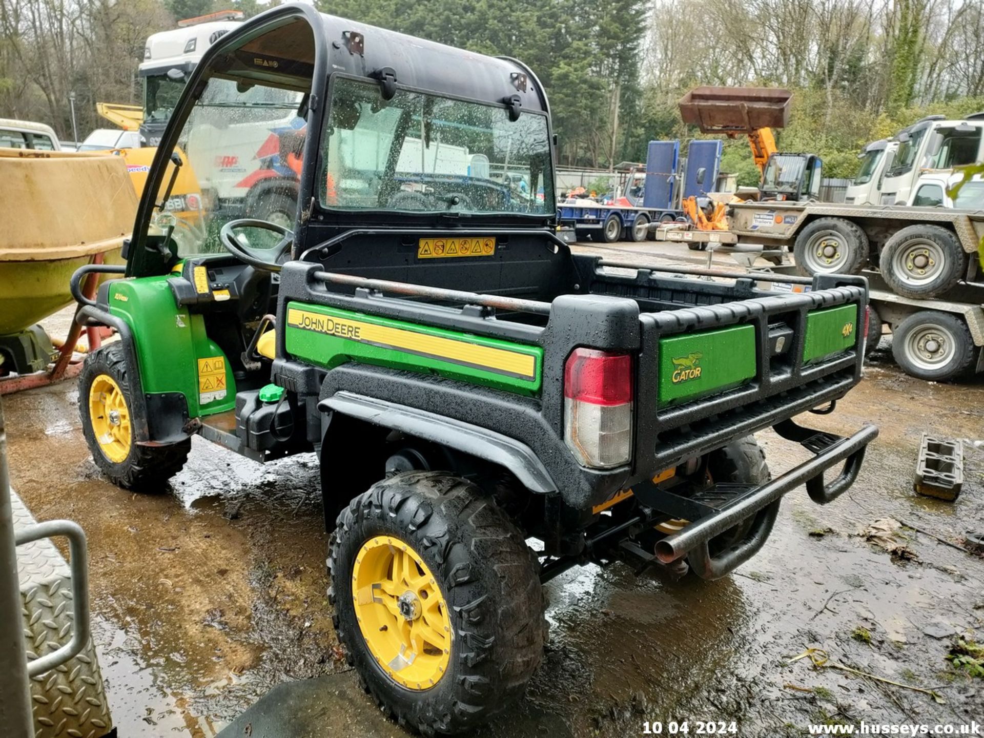
[[[352,566],[352,601],[366,646],[393,681],[427,690],[447,673],[448,603],[409,544],[390,535],[366,541]]]

